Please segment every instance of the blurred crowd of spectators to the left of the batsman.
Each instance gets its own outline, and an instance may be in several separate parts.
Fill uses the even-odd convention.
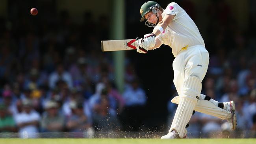
[[[100,50],[107,18],[93,21],[89,12],[84,18],[91,23],[74,24],[67,11],[51,24],[27,17],[2,20],[0,132],[34,138],[38,132],[89,137],[94,131],[137,131],[142,116],[131,110],[143,109],[146,94],[134,66],[127,58],[126,84],[119,93],[111,54]]]

